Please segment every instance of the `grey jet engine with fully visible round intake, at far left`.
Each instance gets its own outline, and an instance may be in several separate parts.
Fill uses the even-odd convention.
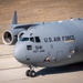
[[[3,43],[8,45],[15,44],[18,41],[18,34],[21,31],[24,31],[24,29],[9,29],[4,31],[2,34]]]

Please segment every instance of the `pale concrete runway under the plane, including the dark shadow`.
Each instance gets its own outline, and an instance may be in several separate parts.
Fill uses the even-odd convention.
[[[38,68],[35,77],[27,77],[13,58],[13,46],[0,44],[0,83],[83,83],[83,62],[60,68]]]

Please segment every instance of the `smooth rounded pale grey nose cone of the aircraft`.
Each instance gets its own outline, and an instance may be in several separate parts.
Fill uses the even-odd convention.
[[[22,44],[15,44],[14,50],[13,50],[13,56],[21,63],[24,62],[24,56],[25,56],[25,48]]]

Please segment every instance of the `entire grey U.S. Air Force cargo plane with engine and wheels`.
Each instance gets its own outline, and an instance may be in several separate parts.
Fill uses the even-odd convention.
[[[83,19],[18,24],[14,11],[11,29],[2,34],[4,44],[15,44],[13,56],[35,76],[33,66],[61,66],[83,61]]]

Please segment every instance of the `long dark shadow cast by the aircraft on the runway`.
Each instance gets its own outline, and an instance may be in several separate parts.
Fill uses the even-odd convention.
[[[63,66],[45,68],[45,69],[38,71],[37,76],[48,75],[48,74],[76,72],[76,71],[83,71],[83,62],[74,63],[74,64],[70,64],[70,65],[63,65]]]

